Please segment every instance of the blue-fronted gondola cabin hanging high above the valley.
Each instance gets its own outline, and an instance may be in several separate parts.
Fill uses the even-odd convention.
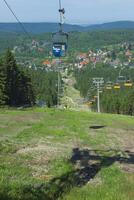
[[[52,51],[55,57],[64,57],[66,56],[68,48],[68,34],[62,31],[52,34]]]

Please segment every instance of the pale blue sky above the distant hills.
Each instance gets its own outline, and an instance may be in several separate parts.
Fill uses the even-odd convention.
[[[58,0],[7,0],[22,22],[57,22]],[[93,24],[117,20],[134,21],[134,0],[62,0],[66,23]],[[15,22],[0,1],[0,22]]]

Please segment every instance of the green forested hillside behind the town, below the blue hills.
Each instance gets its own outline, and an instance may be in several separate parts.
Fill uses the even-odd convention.
[[[31,34],[33,40],[37,41],[35,49],[31,40],[24,33],[4,32],[0,31],[0,52],[5,49],[16,49],[17,57],[28,59],[29,57],[48,56],[51,50],[52,36],[51,33]],[[76,42],[79,41],[79,42]],[[104,31],[89,31],[89,32],[71,32],[69,33],[69,53],[70,52],[87,52],[89,49],[103,48],[107,45],[117,45],[119,43],[134,41],[134,30],[104,30]],[[38,51],[38,47],[43,52]]]

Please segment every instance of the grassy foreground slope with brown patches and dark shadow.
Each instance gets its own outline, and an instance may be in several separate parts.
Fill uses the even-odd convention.
[[[1,200],[134,198],[134,118],[58,110],[0,113]],[[105,127],[89,128],[94,125]]]

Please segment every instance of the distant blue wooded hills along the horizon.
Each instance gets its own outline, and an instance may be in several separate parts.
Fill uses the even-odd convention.
[[[58,23],[24,23],[25,29],[30,33],[40,34],[46,32],[55,32],[58,30]],[[65,24],[64,30],[70,31],[93,31],[93,30],[110,30],[110,29],[134,29],[133,21],[117,21],[104,24],[89,26]],[[18,23],[0,23],[0,31],[23,32]]]

